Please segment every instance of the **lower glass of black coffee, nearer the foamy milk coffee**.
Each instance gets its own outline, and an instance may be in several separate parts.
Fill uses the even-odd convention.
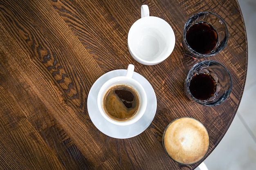
[[[185,82],[185,94],[204,106],[216,106],[230,95],[232,79],[225,66],[213,60],[195,64]]]

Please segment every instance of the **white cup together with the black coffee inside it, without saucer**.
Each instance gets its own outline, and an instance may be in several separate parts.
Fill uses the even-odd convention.
[[[112,124],[127,126],[145,113],[147,96],[141,84],[132,78],[134,68],[129,64],[125,76],[109,79],[99,90],[99,111]]]

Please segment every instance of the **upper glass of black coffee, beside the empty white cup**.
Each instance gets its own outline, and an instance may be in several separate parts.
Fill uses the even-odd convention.
[[[220,53],[227,40],[228,29],[224,20],[214,13],[200,12],[186,22],[181,46],[185,55],[203,58]]]

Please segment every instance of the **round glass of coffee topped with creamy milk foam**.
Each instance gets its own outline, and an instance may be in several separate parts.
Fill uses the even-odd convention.
[[[163,145],[173,160],[191,164],[200,161],[206,154],[209,148],[209,135],[200,121],[182,117],[167,126]]]

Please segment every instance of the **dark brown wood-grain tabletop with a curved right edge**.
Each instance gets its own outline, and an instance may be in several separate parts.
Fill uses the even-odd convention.
[[[154,66],[136,62],[127,47],[142,4],[166,20],[176,38],[173,53]],[[185,22],[200,11],[220,15],[229,30],[227,46],[210,59],[227,67],[233,88],[214,107],[184,95],[189,69],[204,59],[185,57],[180,40]],[[152,85],[157,111],[144,132],[115,139],[92,123],[88,93],[101,75],[128,64]],[[237,0],[0,0],[0,169],[194,169],[201,161],[184,166],[166,155],[164,129],[178,117],[200,120],[210,137],[207,157],[236,115],[246,73]]]

